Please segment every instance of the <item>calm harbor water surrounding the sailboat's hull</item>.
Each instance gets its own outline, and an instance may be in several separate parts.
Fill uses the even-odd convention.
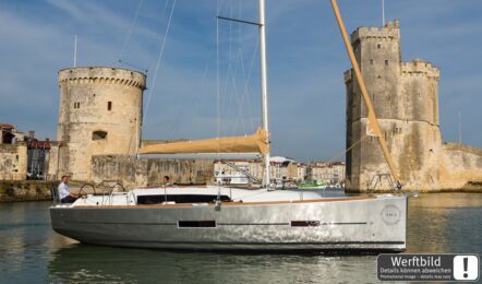
[[[81,245],[51,229],[49,205],[0,203],[0,283],[378,282],[376,256],[188,252]],[[432,193],[410,199],[407,252],[482,255],[481,236],[482,194]]]

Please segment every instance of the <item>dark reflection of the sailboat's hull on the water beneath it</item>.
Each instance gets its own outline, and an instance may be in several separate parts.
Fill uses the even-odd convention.
[[[376,281],[375,256],[239,255],[76,245],[57,250],[51,282],[310,283]]]

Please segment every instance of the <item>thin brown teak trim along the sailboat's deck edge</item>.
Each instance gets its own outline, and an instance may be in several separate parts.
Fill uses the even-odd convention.
[[[375,197],[351,197],[351,198],[327,198],[327,199],[311,199],[311,200],[296,200],[296,201],[258,201],[258,202],[222,202],[221,206],[242,206],[242,205],[269,205],[269,204],[297,204],[297,203],[317,203],[317,202],[336,202],[336,201],[356,201],[376,199]],[[73,206],[79,209],[120,209],[120,208],[196,208],[200,203],[178,203],[178,204],[141,204],[141,205],[80,205]],[[216,203],[207,203],[207,206],[216,206]]]

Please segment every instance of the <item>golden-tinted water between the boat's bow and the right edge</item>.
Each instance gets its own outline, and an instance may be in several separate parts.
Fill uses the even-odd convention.
[[[482,253],[482,196],[421,194],[410,200],[407,252]]]

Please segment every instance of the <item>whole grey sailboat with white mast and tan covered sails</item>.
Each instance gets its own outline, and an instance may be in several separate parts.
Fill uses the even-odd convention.
[[[336,0],[332,3],[337,14]],[[88,194],[73,204],[50,208],[52,228],[57,233],[84,244],[137,248],[406,249],[406,196],[324,198],[318,192],[274,190],[270,187],[264,0],[258,1],[258,7],[260,20],[254,24],[260,29],[263,127],[248,137],[149,145],[141,147],[140,153],[258,152],[265,162],[264,187],[257,190],[220,185],[159,187],[109,196]],[[353,68],[358,68],[356,62]],[[377,134],[379,129],[372,114],[370,131]],[[378,138],[383,139],[382,135]]]

